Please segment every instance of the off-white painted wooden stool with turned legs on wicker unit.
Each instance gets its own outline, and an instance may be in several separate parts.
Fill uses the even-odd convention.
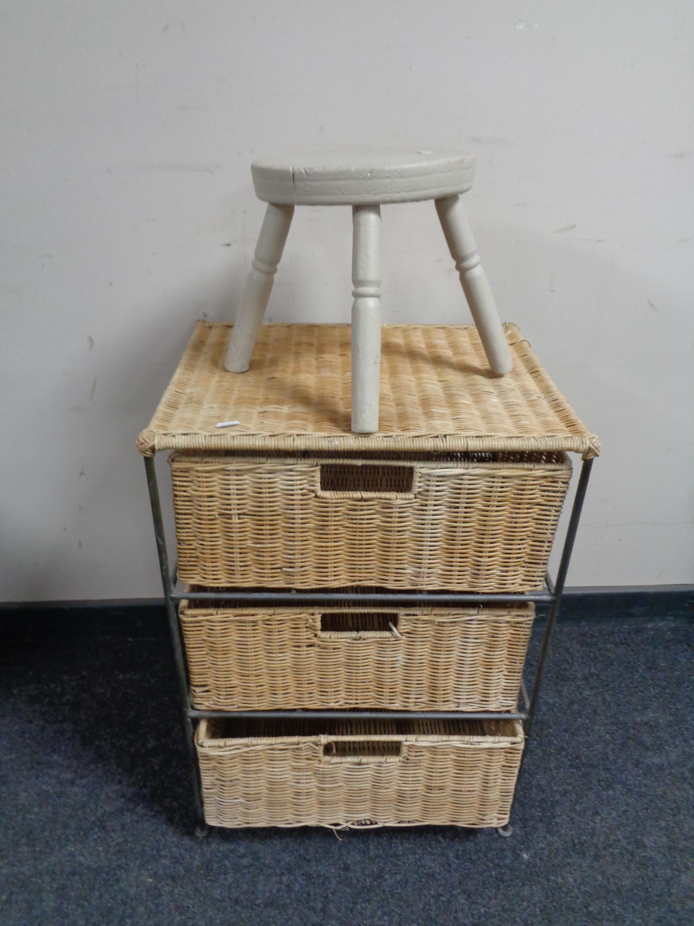
[[[248,369],[294,206],[352,206],[352,430],[378,431],[380,378],[380,204],[433,199],[479,337],[495,373],[512,369],[490,284],[460,195],[472,186],[475,156],[409,148],[299,152],[251,166],[267,206],[225,366]]]

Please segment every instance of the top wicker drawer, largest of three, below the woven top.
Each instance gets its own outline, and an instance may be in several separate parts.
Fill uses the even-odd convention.
[[[212,587],[541,588],[563,453],[171,457],[179,576]]]

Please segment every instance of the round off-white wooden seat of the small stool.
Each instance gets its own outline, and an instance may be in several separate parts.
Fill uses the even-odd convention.
[[[258,199],[278,206],[405,203],[465,193],[475,155],[445,148],[333,148],[264,157],[251,172]]]

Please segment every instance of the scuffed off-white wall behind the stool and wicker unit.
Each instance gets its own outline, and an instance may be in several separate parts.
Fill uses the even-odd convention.
[[[693,21],[686,0],[6,3],[0,600],[160,594],[135,436],[193,319],[233,319],[249,165],[280,145],[477,152],[502,317],[602,439],[569,582],[692,582]],[[386,320],[469,320],[431,204],[384,207],[383,237]],[[349,209],[297,209],[268,318],[349,319],[350,249]]]

